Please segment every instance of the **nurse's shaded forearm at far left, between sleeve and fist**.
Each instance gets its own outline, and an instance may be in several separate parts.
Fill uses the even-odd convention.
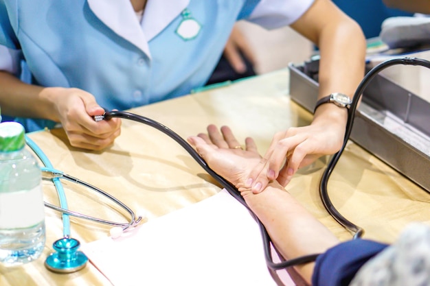
[[[43,87],[25,84],[10,73],[0,71],[0,107],[3,115],[44,118],[58,121],[54,104]]]

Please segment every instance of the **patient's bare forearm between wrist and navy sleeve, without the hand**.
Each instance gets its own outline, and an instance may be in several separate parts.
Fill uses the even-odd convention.
[[[242,196],[286,259],[322,253],[339,243],[337,237],[278,182],[271,182],[258,194],[242,191]],[[310,283],[313,267],[314,263],[307,263],[296,269]]]

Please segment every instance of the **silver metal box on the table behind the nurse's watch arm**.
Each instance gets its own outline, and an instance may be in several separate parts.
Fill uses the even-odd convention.
[[[291,99],[310,112],[317,101],[318,65],[288,65]],[[429,102],[378,74],[363,93],[350,139],[430,191]]]

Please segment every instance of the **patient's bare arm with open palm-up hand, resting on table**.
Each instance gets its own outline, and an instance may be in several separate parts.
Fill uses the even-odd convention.
[[[278,251],[286,259],[326,251],[339,241],[306,208],[291,196],[278,182],[271,182],[258,194],[246,189],[247,174],[260,155],[252,139],[247,139],[246,150],[234,148],[238,142],[231,130],[223,127],[222,134],[215,126],[208,128],[209,136],[199,134],[188,141],[208,165],[234,184],[245,198],[249,208],[266,227]],[[297,267],[299,274],[310,283],[314,263]]]

